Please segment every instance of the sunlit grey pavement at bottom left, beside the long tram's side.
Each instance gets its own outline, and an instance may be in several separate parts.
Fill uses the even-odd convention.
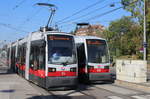
[[[0,66],[0,70],[3,68]],[[35,99],[35,97],[42,99],[40,96],[42,96],[40,91],[17,74],[10,73],[8,70],[0,73],[0,99]]]

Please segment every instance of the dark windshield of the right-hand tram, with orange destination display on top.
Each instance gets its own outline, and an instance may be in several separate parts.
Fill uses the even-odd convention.
[[[108,63],[109,54],[105,40],[88,39],[87,41],[88,62]]]

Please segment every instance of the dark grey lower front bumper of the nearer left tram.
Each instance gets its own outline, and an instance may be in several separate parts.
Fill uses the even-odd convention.
[[[77,85],[77,77],[47,77],[46,88],[72,87]]]

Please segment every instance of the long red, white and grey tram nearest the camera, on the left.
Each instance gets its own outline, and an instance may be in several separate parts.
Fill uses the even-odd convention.
[[[74,36],[38,31],[8,46],[8,64],[25,79],[46,89],[77,85]]]

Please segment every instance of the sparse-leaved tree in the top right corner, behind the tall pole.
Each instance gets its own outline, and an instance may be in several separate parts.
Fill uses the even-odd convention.
[[[137,22],[143,27],[143,15],[144,15],[144,0],[121,0],[124,9],[131,12],[134,19],[138,19]],[[129,3],[135,2],[129,5]],[[148,58],[150,60],[150,0],[145,0],[146,2],[146,35],[148,42]],[[143,28],[141,28],[143,31]]]

